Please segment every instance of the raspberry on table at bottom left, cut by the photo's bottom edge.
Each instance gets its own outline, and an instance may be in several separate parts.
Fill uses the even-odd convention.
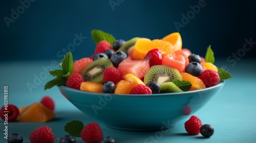
[[[48,126],[36,128],[29,136],[31,143],[53,143],[54,138],[52,129]]]

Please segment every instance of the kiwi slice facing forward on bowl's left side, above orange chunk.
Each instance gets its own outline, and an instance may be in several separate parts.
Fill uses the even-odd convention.
[[[84,81],[103,83],[103,72],[106,68],[114,66],[109,59],[99,58],[81,70]]]

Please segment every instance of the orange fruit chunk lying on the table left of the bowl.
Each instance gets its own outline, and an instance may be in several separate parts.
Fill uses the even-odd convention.
[[[55,117],[55,113],[42,105],[41,103],[33,103],[28,107],[20,108],[19,122],[49,122]]]

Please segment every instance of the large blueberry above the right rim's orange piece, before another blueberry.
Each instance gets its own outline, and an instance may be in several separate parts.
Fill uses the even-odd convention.
[[[198,77],[203,72],[203,67],[198,62],[190,62],[185,67],[185,72],[192,76]]]

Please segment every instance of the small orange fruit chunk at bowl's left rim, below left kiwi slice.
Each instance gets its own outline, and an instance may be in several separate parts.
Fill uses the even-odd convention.
[[[94,83],[94,82],[82,82],[80,85],[80,90],[89,91],[89,92],[100,92],[102,93],[102,83]]]

